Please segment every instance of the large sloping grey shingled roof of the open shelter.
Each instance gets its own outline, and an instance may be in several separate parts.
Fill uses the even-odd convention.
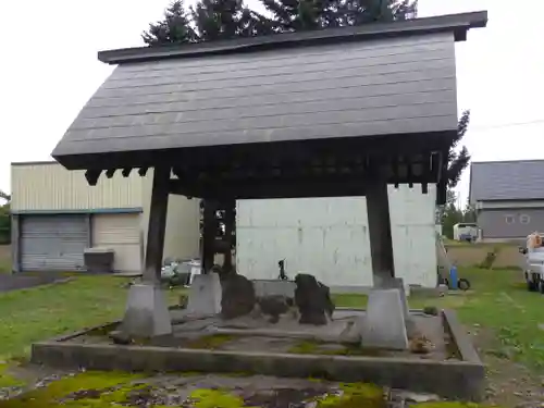
[[[120,65],[52,156],[78,169],[85,164],[74,157],[108,161],[114,153],[455,132],[454,41],[459,30],[485,21],[485,13],[468,13],[287,34],[249,39],[274,44],[249,50],[220,41],[144,59],[162,48],[137,49],[139,59],[129,58],[131,49],[103,53],[103,61]],[[331,36],[335,44],[301,47],[305,36]],[[290,39],[286,46],[277,38]],[[218,47],[228,52],[210,51]]]

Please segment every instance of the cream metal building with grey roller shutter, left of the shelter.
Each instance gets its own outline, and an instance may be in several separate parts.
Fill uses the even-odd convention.
[[[85,248],[115,251],[115,271],[140,271],[151,173],[100,177],[90,187],[84,171],[57,162],[12,164],[13,270],[78,271]],[[171,196],[164,257],[199,251],[199,201]]]

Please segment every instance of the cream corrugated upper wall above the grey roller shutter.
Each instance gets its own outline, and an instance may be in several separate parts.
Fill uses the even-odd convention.
[[[141,208],[143,178],[101,176],[89,187],[84,171],[58,163],[15,163],[11,166],[12,211],[53,211]]]

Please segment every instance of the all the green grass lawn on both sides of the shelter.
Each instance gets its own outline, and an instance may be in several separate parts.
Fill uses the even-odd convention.
[[[544,297],[527,292],[519,271],[460,269],[459,274],[471,281],[470,292],[441,298],[411,296],[410,307],[457,310],[489,364],[490,382],[499,390],[494,401],[515,406],[519,400],[511,398],[520,398],[520,391],[542,387]],[[65,284],[0,294],[0,355],[24,357],[33,342],[119,319],[126,300],[124,283],[119,277],[78,276]],[[180,292],[171,292],[172,301]],[[363,307],[367,297],[338,295],[335,301]]]

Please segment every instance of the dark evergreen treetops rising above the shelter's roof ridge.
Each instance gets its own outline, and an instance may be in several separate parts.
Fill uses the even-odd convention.
[[[407,20],[417,12],[417,0],[260,1],[271,17],[247,8],[243,0],[199,0],[189,13],[176,0],[141,37],[154,47]]]

